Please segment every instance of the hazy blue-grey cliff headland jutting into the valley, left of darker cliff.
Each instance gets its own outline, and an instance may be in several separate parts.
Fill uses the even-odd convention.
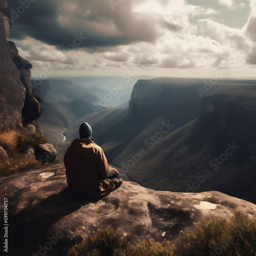
[[[130,114],[140,117],[164,115],[180,127],[199,115],[200,79],[155,78],[138,80],[130,100]]]

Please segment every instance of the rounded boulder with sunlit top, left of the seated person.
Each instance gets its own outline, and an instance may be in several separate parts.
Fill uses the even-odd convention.
[[[42,164],[52,163],[58,154],[54,146],[49,143],[39,144],[34,148],[34,151],[36,159]]]

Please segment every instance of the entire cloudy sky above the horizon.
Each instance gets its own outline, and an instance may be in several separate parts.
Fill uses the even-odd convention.
[[[256,77],[256,0],[7,0],[32,75]]]

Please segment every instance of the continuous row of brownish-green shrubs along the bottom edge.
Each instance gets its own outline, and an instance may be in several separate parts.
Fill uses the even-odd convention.
[[[133,241],[132,237],[111,227],[101,227],[67,256],[255,256],[256,216],[250,219],[235,211],[229,221],[212,217],[201,219],[191,233],[174,242]]]

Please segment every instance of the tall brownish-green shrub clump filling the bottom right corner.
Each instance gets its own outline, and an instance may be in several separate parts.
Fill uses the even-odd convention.
[[[256,255],[256,218],[240,211],[227,222],[223,218],[202,219],[194,232],[175,243],[177,256],[250,256]]]

